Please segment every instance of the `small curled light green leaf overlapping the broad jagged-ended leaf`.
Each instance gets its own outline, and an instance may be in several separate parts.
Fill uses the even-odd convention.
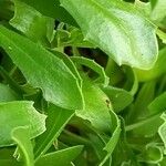
[[[33,147],[30,141],[29,127],[15,127],[11,133],[11,137],[18,144],[18,158],[20,158],[25,166],[34,166]]]

